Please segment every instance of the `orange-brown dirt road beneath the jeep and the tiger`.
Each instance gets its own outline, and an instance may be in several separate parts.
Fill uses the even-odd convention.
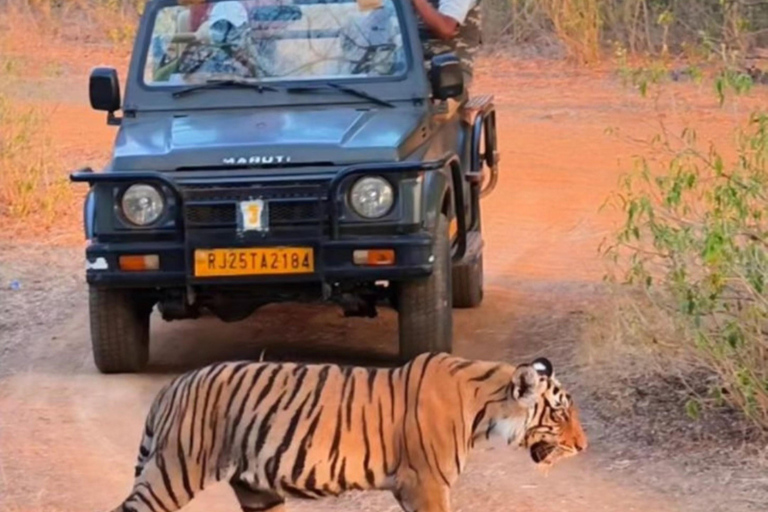
[[[579,319],[595,299],[602,275],[596,249],[615,220],[597,210],[615,187],[619,166],[629,165],[633,151],[606,136],[605,130],[621,126],[633,135],[651,133],[653,127],[639,121],[649,114],[644,110],[648,107],[613,81],[591,77],[586,83],[587,78],[574,76],[567,68],[542,77],[542,70],[533,65],[505,72],[487,64],[484,71],[491,66],[498,74],[481,82],[480,89],[493,91],[499,100],[502,177],[483,211],[487,298],[479,310],[456,312],[457,352],[505,360],[548,355],[562,369],[563,380],[573,384],[578,399],[578,382],[568,370],[574,348],[581,343]],[[581,84],[578,89],[576,83]],[[716,115],[708,92],[684,93],[703,104],[696,115],[707,119]],[[680,122],[690,111],[677,105],[680,117],[675,121]],[[67,121],[61,113],[72,111],[86,112],[81,105],[63,107],[55,130],[71,133],[71,118]],[[723,128],[733,120],[730,114],[717,115],[724,116]],[[87,132],[91,141],[108,142],[111,137],[100,124]],[[72,144],[85,149],[92,142]],[[394,350],[396,324],[388,312],[376,320],[350,323],[333,309],[277,306],[232,325],[214,320],[166,324],[153,319],[150,373],[99,375],[88,345],[85,290],[77,260],[81,250],[61,251],[44,256],[30,251],[24,258],[26,267],[21,265],[27,270],[19,270],[31,276],[25,293],[39,296],[38,306],[54,308],[56,314],[43,315],[45,325],[35,325],[37,317],[32,314],[16,318],[14,325],[24,330],[17,329],[15,337],[0,342],[2,512],[114,507],[131,485],[139,435],[155,391],[184,369],[220,359],[255,358],[264,347],[268,357],[309,354],[321,359],[339,350],[355,358],[363,349],[387,358]],[[0,260],[5,268],[19,267],[19,258],[8,254]],[[8,270],[0,279],[11,273]],[[52,280],[64,284],[55,294],[41,291]],[[723,501],[711,490],[712,496],[673,495],[663,491],[669,485],[654,485],[653,479],[637,473],[628,476],[622,469],[626,464],[613,459],[615,447],[599,442],[595,411],[586,397],[583,402],[587,433],[593,437],[588,452],[545,477],[525,453],[479,451],[455,490],[454,509],[665,512],[702,510],[702,503],[708,503],[710,511],[759,509],[729,502],[727,496]],[[695,488],[695,482],[683,476],[674,472],[669,476],[678,479],[678,489]],[[665,483],[670,482],[675,485]],[[231,491],[220,486],[185,510],[234,511],[237,505]],[[291,510],[398,508],[389,495],[368,493],[294,502]]]

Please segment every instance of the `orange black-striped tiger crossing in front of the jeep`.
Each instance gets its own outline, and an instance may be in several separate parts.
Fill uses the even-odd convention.
[[[173,512],[220,481],[243,512],[350,490],[388,490],[407,512],[449,512],[470,450],[499,440],[544,465],[587,447],[548,359],[215,363],[158,392],[132,491],[113,512]]]

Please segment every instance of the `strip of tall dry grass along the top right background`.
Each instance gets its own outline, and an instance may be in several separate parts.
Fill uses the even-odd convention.
[[[768,46],[768,2],[488,0],[484,14],[492,45],[547,53],[558,45],[578,62],[592,62],[615,46],[630,55],[735,52],[742,59]]]

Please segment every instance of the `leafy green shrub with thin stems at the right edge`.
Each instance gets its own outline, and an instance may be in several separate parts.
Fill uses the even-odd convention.
[[[731,157],[694,130],[655,137],[610,200],[624,220],[605,254],[609,279],[643,292],[643,314],[672,320],[675,357],[718,377],[710,398],[768,428],[768,114],[735,135]]]

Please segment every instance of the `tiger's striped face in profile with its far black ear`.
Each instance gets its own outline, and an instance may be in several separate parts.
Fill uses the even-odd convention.
[[[586,449],[587,436],[571,395],[554,376],[552,363],[539,358],[530,366],[543,389],[528,409],[521,445],[530,451],[535,463],[548,466]]]

